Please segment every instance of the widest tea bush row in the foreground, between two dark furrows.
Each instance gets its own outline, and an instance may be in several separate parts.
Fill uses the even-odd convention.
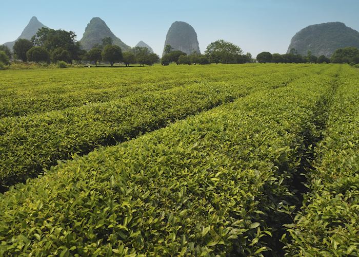
[[[333,80],[306,76],[60,163],[0,199],[0,253],[260,255],[303,130]]]

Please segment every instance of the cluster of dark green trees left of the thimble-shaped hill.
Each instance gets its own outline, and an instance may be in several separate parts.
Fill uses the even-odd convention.
[[[13,46],[13,53],[7,46],[0,46],[0,62],[10,64],[10,59],[23,62],[64,62],[72,64],[93,62],[124,63],[126,66],[139,63],[141,66],[153,65],[159,62],[155,53],[149,52],[146,47],[134,47],[128,52],[122,52],[119,46],[112,44],[111,38],[104,38],[102,44],[95,45],[91,50],[81,49],[75,41],[76,34],[72,31],[41,28],[31,40],[19,39]]]

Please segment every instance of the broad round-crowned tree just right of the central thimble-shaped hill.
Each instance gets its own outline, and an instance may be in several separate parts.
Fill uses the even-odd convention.
[[[208,56],[215,62],[237,63],[237,58],[243,53],[239,46],[224,40],[217,40],[210,43],[205,51]]]

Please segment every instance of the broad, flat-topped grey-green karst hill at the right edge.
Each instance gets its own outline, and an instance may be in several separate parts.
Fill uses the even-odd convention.
[[[341,22],[329,22],[308,26],[297,32],[288,47],[307,55],[308,50],[314,56],[331,57],[338,48],[355,46],[359,48],[359,32]]]

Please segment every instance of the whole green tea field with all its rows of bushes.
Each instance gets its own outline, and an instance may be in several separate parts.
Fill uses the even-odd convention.
[[[1,71],[0,255],[358,255],[358,81],[335,64]]]

